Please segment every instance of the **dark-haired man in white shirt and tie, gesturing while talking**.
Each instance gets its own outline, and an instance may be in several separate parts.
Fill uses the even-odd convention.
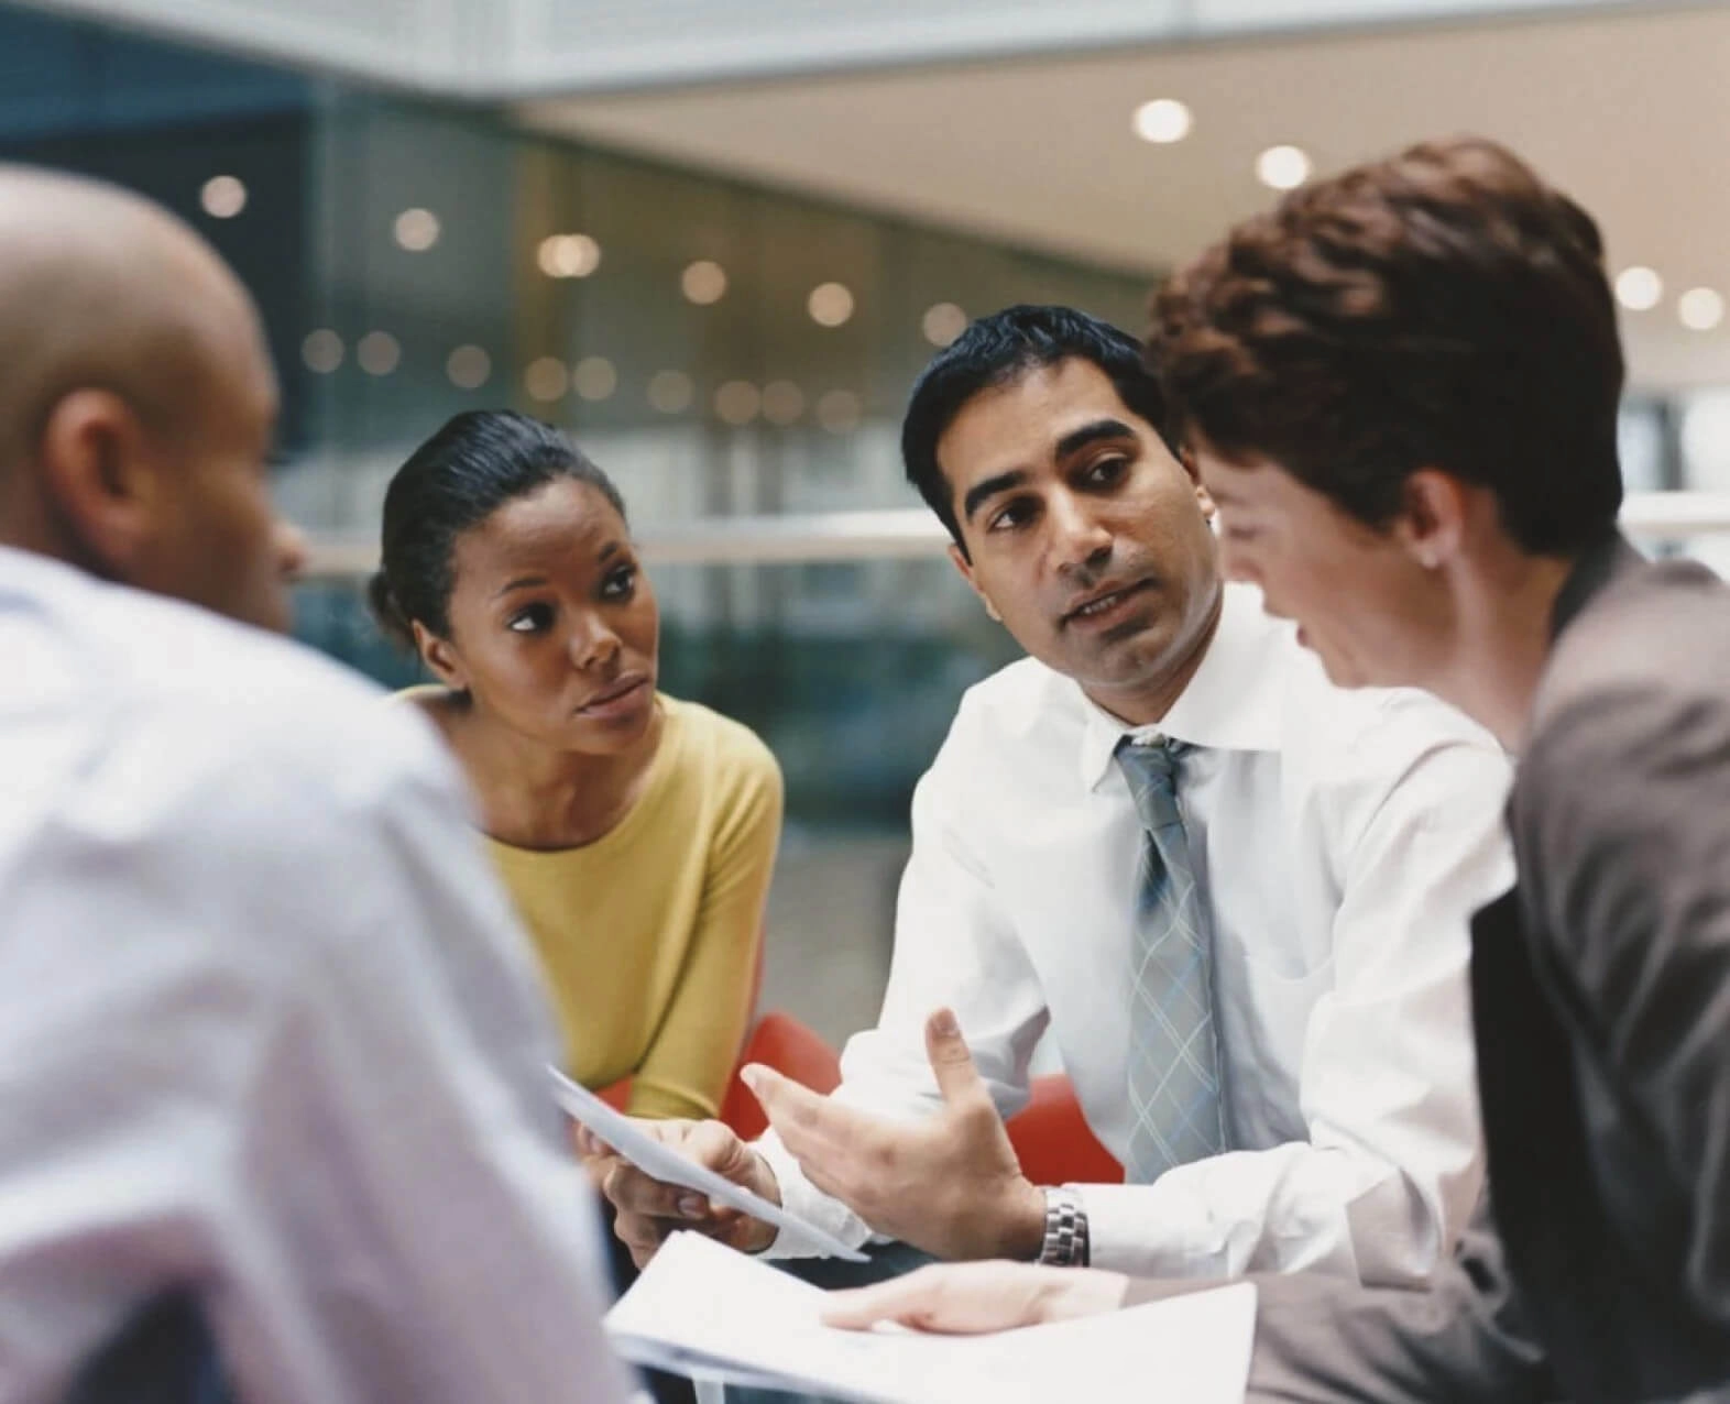
[[[663,1134],[849,1243],[1422,1283],[1483,1183],[1467,916],[1512,882],[1509,771],[1424,693],[1332,686],[1221,584],[1213,507],[1161,417],[1140,346],[1062,308],[977,322],[926,370],[908,475],[1031,657],[967,693],[917,788],[882,1018],[839,1091],[756,1070],[761,1143]],[[1149,820],[1135,754],[1166,740],[1176,813],[1168,788]],[[1178,835],[1164,870],[1156,828]],[[1173,885],[1199,892],[1178,923]],[[1149,925],[1199,932],[1185,951],[1211,963],[1180,1053],[1154,1024],[1190,992],[1178,967],[1150,979]],[[1021,1176],[1000,1117],[1041,1037],[1131,1183]],[[1159,1079],[1197,1048],[1178,1110],[1202,1107],[1206,1134],[1171,1145],[1190,1127],[1163,1124]],[[604,1169],[638,1259],[680,1222],[775,1252],[761,1224]]]

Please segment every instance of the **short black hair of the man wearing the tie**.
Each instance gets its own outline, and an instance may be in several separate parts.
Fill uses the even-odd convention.
[[[1118,398],[1156,431],[1166,417],[1159,379],[1142,358],[1142,342],[1109,322],[1074,308],[1021,304],[981,316],[946,349],[932,356],[907,405],[901,420],[901,462],[907,481],[926,500],[962,553],[960,522],[955,517],[955,488],[938,463],[938,439],[979,391],[1007,386],[1029,370],[1059,361],[1092,361],[1118,389]]]

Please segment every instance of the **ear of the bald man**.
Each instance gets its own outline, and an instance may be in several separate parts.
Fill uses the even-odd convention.
[[[55,515],[104,576],[135,583],[163,527],[170,465],[112,391],[78,389],[48,410],[36,441]]]

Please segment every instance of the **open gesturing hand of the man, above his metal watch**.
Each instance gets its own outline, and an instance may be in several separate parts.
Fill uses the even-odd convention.
[[[877,1233],[946,1259],[1038,1257],[1045,1197],[1022,1174],[950,1010],[926,1020],[943,1110],[868,1115],[780,1074],[742,1072],[806,1177]]]

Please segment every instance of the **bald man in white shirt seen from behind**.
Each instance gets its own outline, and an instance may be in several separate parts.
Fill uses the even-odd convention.
[[[164,211],[0,166],[0,1404],[161,1397],[180,1338],[111,1347],[164,1300],[240,1399],[618,1404],[453,766],[266,633],[251,301]]]

